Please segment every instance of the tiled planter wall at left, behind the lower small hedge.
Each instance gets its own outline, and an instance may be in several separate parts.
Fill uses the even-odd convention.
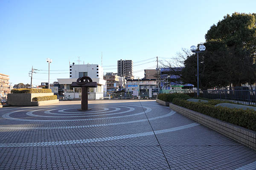
[[[11,106],[38,106],[37,102],[32,102],[34,97],[52,95],[53,93],[8,94],[8,104]]]

